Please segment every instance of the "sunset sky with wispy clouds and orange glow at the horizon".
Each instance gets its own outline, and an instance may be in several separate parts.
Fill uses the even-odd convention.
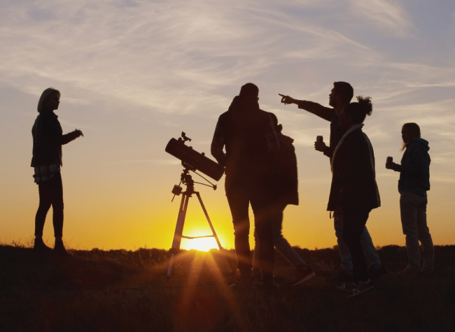
[[[454,244],[455,2],[453,0],[25,1],[0,5],[0,242],[33,238],[38,187],[31,127],[44,89],[62,93],[64,240],[77,249],[172,245],[179,160],[165,152],[185,131],[209,155],[218,116],[241,85],[295,139],[300,205],[286,208],[291,245],[336,245],[326,211],[328,158],[314,150],[329,122],[279,93],[328,106],[335,81],[371,96],[365,120],[376,157],[381,207],[367,222],[374,245],[404,245],[398,173],[400,130],[416,122],[430,145],[428,226],[436,245]],[[197,176],[196,176],[197,177]],[[195,178],[196,178],[195,177]],[[224,247],[234,247],[224,193],[196,187]],[[184,235],[210,233],[196,199]],[[51,211],[44,239],[53,241]],[[215,247],[213,239],[182,247]],[[253,242],[252,242],[253,243]]]

